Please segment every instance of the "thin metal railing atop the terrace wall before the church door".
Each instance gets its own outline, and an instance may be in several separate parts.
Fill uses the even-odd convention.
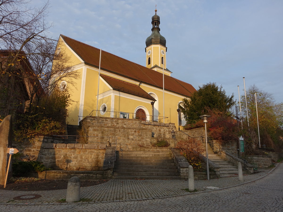
[[[101,114],[100,112],[103,114]],[[109,113],[110,113],[110,116],[109,116]],[[127,113],[127,112],[122,112],[122,111],[118,112],[118,111],[92,110],[89,113],[89,116],[96,116],[96,114],[97,116],[101,116],[101,117],[114,117],[115,115],[115,118],[132,118],[132,119],[141,119],[147,122],[154,121],[154,122],[160,122],[160,123],[163,123],[163,118],[164,118],[164,119],[167,119],[167,122],[170,122],[168,120],[169,117],[165,117],[165,116],[155,116],[155,115],[152,116],[152,115],[146,115],[146,114]],[[80,117],[83,117],[83,116],[80,116]]]

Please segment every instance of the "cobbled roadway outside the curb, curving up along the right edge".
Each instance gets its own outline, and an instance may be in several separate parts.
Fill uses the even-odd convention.
[[[231,181],[235,178],[233,177]],[[225,180],[229,179],[219,179],[218,183],[223,181],[225,184]],[[283,165],[279,164],[264,178],[230,188],[190,194],[181,193],[172,197],[162,197],[161,194],[160,198],[125,199],[122,202],[116,199],[99,203],[2,204],[0,211],[283,211],[282,185]],[[153,190],[158,191],[158,189]]]

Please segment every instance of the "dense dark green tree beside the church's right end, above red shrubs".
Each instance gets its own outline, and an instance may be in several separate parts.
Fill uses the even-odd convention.
[[[209,111],[217,109],[220,112],[227,112],[235,104],[234,95],[227,96],[222,86],[216,83],[207,83],[194,92],[190,99],[184,98],[180,104],[187,124],[194,124],[199,116],[209,114]]]

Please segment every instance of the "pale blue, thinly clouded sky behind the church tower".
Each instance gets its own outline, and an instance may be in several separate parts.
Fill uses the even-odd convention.
[[[31,0],[31,6],[46,1]],[[151,17],[160,16],[172,77],[196,89],[215,82],[234,99],[256,85],[283,102],[282,0],[49,0],[49,36],[60,34],[145,66]]]

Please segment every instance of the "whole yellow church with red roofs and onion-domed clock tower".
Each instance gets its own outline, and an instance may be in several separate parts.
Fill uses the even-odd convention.
[[[68,55],[73,70],[80,73],[76,88],[67,80],[62,82],[70,88],[73,101],[68,107],[68,124],[78,125],[79,117],[92,115],[185,125],[178,105],[196,89],[171,77],[159,23],[155,11],[152,34],[146,39],[146,66],[60,35],[56,51]]]

